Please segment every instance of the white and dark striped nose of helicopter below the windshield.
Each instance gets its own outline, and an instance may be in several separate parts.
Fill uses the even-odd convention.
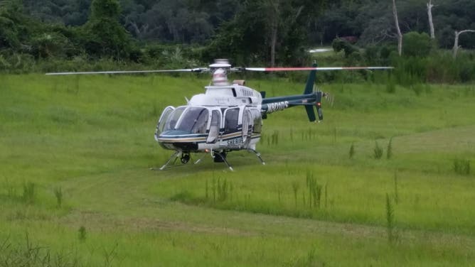
[[[161,146],[164,146],[164,148],[181,151],[197,151],[198,143],[206,141],[206,134],[169,130],[163,131],[159,136],[155,136],[155,139]]]

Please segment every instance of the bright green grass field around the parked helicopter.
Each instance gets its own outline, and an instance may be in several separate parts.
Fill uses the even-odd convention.
[[[207,83],[0,75],[0,266],[474,266],[475,86],[321,85],[320,124],[264,121],[267,165],[149,170],[161,110]]]

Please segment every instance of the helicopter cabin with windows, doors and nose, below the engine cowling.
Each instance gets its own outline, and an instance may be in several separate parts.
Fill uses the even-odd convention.
[[[262,117],[257,107],[166,107],[155,139],[166,149],[199,152],[206,149],[255,149]]]

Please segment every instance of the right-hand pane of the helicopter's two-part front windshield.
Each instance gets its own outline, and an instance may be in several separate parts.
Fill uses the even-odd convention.
[[[181,115],[176,130],[190,133],[206,133],[208,126],[208,109],[204,107],[188,107]]]

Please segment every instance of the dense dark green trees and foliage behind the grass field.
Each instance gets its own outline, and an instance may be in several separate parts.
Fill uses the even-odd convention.
[[[453,59],[444,51],[454,31],[475,29],[474,1],[432,1],[434,40],[426,1],[396,3],[402,57],[393,11],[380,0],[0,0],[0,70],[195,67],[213,58],[309,65],[309,48],[331,44],[336,54],[325,65],[410,66],[399,70],[410,80],[475,80],[473,53]],[[459,45],[475,48],[475,34],[461,35]]]

